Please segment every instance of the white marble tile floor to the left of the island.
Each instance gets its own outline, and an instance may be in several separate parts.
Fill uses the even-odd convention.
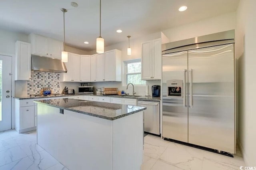
[[[0,170],[67,170],[36,144],[36,131],[0,132]]]

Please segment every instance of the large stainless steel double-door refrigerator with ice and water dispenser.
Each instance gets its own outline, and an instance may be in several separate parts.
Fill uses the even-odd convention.
[[[162,45],[162,136],[234,154],[234,70],[234,30]]]

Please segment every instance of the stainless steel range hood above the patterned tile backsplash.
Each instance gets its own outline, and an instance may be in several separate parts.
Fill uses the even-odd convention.
[[[60,59],[31,55],[31,70],[66,73],[66,65]]]

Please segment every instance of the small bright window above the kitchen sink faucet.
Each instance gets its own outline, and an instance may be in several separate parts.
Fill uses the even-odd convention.
[[[126,63],[126,84],[145,85],[146,81],[141,79],[141,62],[131,61]]]

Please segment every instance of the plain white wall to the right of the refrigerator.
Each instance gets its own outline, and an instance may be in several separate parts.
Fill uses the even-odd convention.
[[[239,140],[247,166],[256,166],[255,6],[255,0],[240,0],[236,26],[236,58],[239,62]]]

